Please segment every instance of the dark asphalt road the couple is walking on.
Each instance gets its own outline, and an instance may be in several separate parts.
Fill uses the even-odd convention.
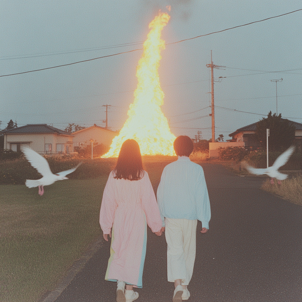
[[[302,301],[302,207],[259,189],[263,178],[239,177],[202,164],[210,195],[210,230],[201,234],[188,289],[191,302]],[[104,281],[110,243],[104,243],[56,302],[116,301]],[[148,228],[143,289],[137,301],[172,301],[165,236]]]

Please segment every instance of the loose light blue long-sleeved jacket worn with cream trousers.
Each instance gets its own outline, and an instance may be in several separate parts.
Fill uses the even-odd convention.
[[[198,219],[209,228],[210,200],[202,167],[186,156],[166,165],[157,189],[162,225],[165,218]]]

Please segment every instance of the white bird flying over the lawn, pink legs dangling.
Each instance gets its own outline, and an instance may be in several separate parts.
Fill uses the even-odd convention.
[[[21,151],[24,153],[25,158],[31,163],[31,165],[35,169],[37,169],[37,171],[43,176],[42,178],[37,179],[37,180],[27,179],[25,182],[25,185],[28,188],[39,187],[38,194],[40,196],[42,196],[44,194],[43,186],[52,185],[57,180],[68,179],[66,177],[66,175],[76,171],[76,169],[79,167],[79,165],[82,164],[82,162],[80,162],[73,169],[69,169],[66,171],[59,172],[57,174],[53,174],[50,171],[50,167],[49,167],[47,160],[43,156],[41,156],[34,150],[27,148],[27,147],[23,147]]]

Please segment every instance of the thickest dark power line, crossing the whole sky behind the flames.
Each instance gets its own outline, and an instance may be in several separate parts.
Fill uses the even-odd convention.
[[[296,11],[301,11],[301,10],[302,9],[297,9]],[[173,43],[167,43],[165,45],[176,44],[176,43],[180,43],[180,42],[183,42],[183,41],[187,41],[187,40],[192,40],[192,39],[196,39],[196,38],[199,38],[199,37],[208,36],[208,35],[211,35],[211,34],[217,34],[217,33],[220,33],[220,32],[223,32],[223,31],[228,31],[230,29],[234,29],[234,28],[237,28],[237,27],[242,27],[242,26],[246,26],[246,25],[249,25],[249,24],[257,23],[257,22],[262,22],[262,21],[265,21],[265,20],[268,20],[268,19],[281,17],[281,16],[284,16],[284,15],[287,15],[287,14],[292,14],[292,13],[294,13],[296,11],[291,11],[291,12],[286,13],[286,14],[281,14],[281,15],[270,17],[270,18],[266,18],[266,19],[263,19],[263,20],[254,21],[254,22],[250,22],[250,23],[247,23],[247,24],[243,24],[243,25],[238,25],[238,26],[226,28],[226,29],[223,29],[221,31],[214,31],[214,32],[209,33],[209,34],[205,34],[205,35],[201,35],[201,36],[197,36],[197,37],[193,37],[193,38],[189,38],[189,39],[185,39],[185,40],[180,40],[180,41],[173,42]],[[134,50],[125,51],[125,52],[122,52],[122,53],[114,53],[114,54],[108,55],[108,56],[101,56],[101,57],[98,57],[98,58],[93,58],[93,59],[78,61],[78,62],[74,62],[74,63],[63,64],[63,65],[58,65],[58,66],[53,66],[53,67],[47,67],[47,68],[41,68],[41,69],[35,69],[35,70],[30,70],[30,71],[25,71],[25,72],[12,73],[12,74],[3,75],[3,76],[14,76],[14,75],[28,73],[28,72],[41,71],[41,70],[52,69],[52,68],[57,68],[57,67],[62,67],[62,66],[68,66],[68,65],[73,65],[73,64],[77,64],[77,63],[88,62],[88,61],[92,61],[92,60],[96,60],[96,59],[106,58],[106,57],[110,57],[110,56],[117,56],[117,55],[120,55],[120,54],[123,54],[123,53],[131,53],[131,52],[137,51],[137,50],[143,50],[143,49],[142,48],[140,48],[140,49],[134,49]],[[0,77],[3,77],[3,76],[0,76]]]

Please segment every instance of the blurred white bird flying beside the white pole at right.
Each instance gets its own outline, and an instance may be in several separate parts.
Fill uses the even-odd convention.
[[[256,174],[256,175],[268,175],[271,177],[271,184],[274,183],[274,178],[278,179],[278,184],[281,184],[281,180],[284,180],[288,177],[287,174],[280,173],[278,169],[285,165],[288,162],[288,159],[294,152],[295,147],[291,146],[289,147],[285,152],[283,152],[280,156],[277,157],[275,162],[271,167],[268,167],[266,169],[256,169],[249,165],[246,165],[246,169],[249,170],[250,173]]]

